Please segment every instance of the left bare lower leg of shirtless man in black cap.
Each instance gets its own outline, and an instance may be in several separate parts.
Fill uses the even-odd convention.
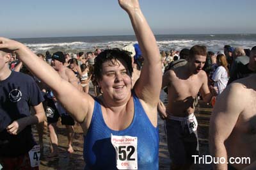
[[[58,156],[58,135],[56,134],[56,123],[48,123],[50,141],[51,141],[51,155],[49,157]]]

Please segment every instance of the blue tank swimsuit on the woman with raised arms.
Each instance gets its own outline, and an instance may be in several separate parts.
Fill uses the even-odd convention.
[[[99,101],[95,100],[92,121],[84,137],[85,169],[117,169],[111,134],[138,137],[138,169],[158,169],[158,127],[155,128],[133,93],[134,118],[124,130],[111,130],[104,122]]]

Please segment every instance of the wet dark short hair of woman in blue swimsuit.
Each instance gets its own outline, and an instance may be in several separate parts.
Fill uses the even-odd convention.
[[[132,59],[129,52],[120,49],[104,50],[95,58],[94,75],[95,79],[102,79],[102,64],[106,61],[111,61],[115,65],[117,59],[122,59],[127,64],[127,71],[132,76]]]

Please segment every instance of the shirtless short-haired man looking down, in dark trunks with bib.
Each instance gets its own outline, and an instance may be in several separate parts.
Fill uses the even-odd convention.
[[[202,70],[206,55],[205,46],[195,45],[189,50],[186,65],[168,70],[163,75],[162,88],[168,88],[168,104],[166,112],[160,113],[160,116],[166,119],[171,169],[189,169],[193,163],[191,155],[198,155],[194,101],[198,91],[204,102],[208,103],[212,98],[207,75]],[[163,104],[160,106],[163,109]]]

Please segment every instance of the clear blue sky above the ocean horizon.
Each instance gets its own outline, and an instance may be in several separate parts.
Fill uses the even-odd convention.
[[[155,34],[256,33],[254,0],[140,0]],[[1,1],[0,36],[133,35],[117,0]]]

